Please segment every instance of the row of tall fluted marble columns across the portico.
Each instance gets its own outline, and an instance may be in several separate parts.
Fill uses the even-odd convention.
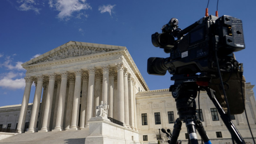
[[[43,91],[42,106],[40,112],[41,130],[39,132],[50,131],[50,117],[51,110],[54,109],[53,114],[53,131],[63,131],[68,129],[82,129],[89,127],[88,120],[94,117],[95,107],[99,105],[101,100],[108,102],[109,113],[108,117],[112,117],[121,121],[126,127],[136,129],[136,107],[135,107],[135,80],[128,74],[128,70],[124,68],[123,64],[117,65],[117,81],[115,81],[115,71],[109,65],[102,66],[101,78],[96,68],[87,68],[88,73],[81,69],[75,69],[75,77],[69,78],[69,93],[66,108],[65,126],[64,122],[64,108],[66,100],[66,89],[68,84],[67,71],[60,72],[61,78],[56,79],[56,74],[48,74],[48,84],[46,91]],[[38,111],[40,107],[40,100],[42,95],[44,75],[37,75],[36,91],[32,106],[32,115],[29,123],[28,132],[36,132]],[[27,113],[27,105],[31,91],[33,78],[31,76],[25,77],[26,86],[21,104],[21,112],[18,122],[18,133],[22,133],[25,125],[25,118]],[[102,93],[100,91],[102,80]],[[57,82],[57,93],[55,105],[53,105],[54,84]],[[80,127],[78,126],[78,116],[80,107],[80,91],[82,82],[82,98],[81,98],[81,112],[80,112]],[[45,90],[45,86],[44,89]],[[45,96],[44,96],[45,95]]]

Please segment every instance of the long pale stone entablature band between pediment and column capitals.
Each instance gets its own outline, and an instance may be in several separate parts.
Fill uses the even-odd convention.
[[[110,57],[104,58],[103,61],[120,59],[121,57],[122,57],[121,55],[110,56]],[[71,64],[60,64],[60,65],[39,67],[39,68],[35,68],[35,69],[27,69],[27,73],[33,73],[33,72],[38,72],[38,71],[43,71],[43,70],[50,70],[50,69],[59,69],[59,68],[65,68],[65,67],[70,67],[70,66],[76,66],[76,65],[97,63],[97,62],[101,62],[102,59],[101,58],[100,59],[90,59],[90,60],[75,62],[75,63],[71,63]]]

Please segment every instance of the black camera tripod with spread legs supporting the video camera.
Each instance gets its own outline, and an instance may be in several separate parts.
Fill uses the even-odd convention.
[[[208,77],[198,77],[198,75],[184,76],[184,75],[174,75],[171,79],[175,79],[174,85],[171,85],[170,91],[172,91],[172,96],[176,99],[176,108],[179,117],[176,119],[173,126],[173,132],[170,144],[176,144],[181,131],[181,125],[184,121],[187,127],[187,133],[189,135],[188,144],[198,144],[197,132],[203,139],[204,144],[211,144],[206,131],[203,128],[202,122],[196,116],[196,101],[198,86],[201,89],[207,91],[209,98],[213,101],[213,104],[217,108],[220,117],[225,123],[229,132],[233,136],[234,140],[238,144],[245,144],[244,139],[241,137],[238,130],[232,121],[229,121],[228,115],[224,112],[219,102],[214,96],[214,91],[208,87]],[[198,81],[200,80],[200,81]],[[202,81],[201,81],[202,80]]]

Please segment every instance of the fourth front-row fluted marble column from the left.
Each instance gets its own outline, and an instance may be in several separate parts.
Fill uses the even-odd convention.
[[[66,97],[66,89],[67,89],[67,77],[68,72],[63,71],[60,73],[61,75],[61,84],[60,84],[60,92],[59,92],[59,103],[58,103],[58,111],[56,118],[56,125],[53,131],[63,131],[63,116],[64,116],[64,107],[65,107],[65,97]]]

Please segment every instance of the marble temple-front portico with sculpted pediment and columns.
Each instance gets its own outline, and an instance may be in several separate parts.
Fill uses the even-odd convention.
[[[100,101],[109,104],[107,117],[137,130],[135,93],[149,88],[127,48],[70,41],[22,67],[27,73],[18,133],[24,133],[32,82],[36,91],[27,133],[88,128]]]

